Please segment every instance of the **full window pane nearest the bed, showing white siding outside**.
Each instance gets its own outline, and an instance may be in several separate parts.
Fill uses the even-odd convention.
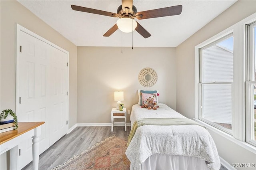
[[[233,34],[199,49],[199,119],[232,133]]]

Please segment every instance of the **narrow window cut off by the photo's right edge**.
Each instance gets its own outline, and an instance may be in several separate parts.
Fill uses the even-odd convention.
[[[246,25],[247,82],[246,82],[246,142],[256,146],[256,22]]]

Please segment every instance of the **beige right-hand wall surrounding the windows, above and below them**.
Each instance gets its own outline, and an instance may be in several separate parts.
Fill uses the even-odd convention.
[[[194,54],[195,46],[256,12],[256,1],[239,0],[185,42],[176,47],[176,108],[194,118]],[[210,131],[219,155],[228,163],[255,163],[256,154]],[[241,168],[242,169],[242,168]]]

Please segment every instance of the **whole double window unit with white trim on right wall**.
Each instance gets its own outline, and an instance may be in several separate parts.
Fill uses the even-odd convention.
[[[255,152],[256,13],[195,47],[195,121]]]

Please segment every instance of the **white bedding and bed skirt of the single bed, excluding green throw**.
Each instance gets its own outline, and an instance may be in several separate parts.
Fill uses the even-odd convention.
[[[186,119],[163,103],[158,106],[157,110],[148,110],[139,104],[133,105],[132,127],[134,122],[144,118]],[[220,169],[214,141],[206,128],[199,125],[140,126],[128,143],[126,156],[131,162],[130,170]]]

